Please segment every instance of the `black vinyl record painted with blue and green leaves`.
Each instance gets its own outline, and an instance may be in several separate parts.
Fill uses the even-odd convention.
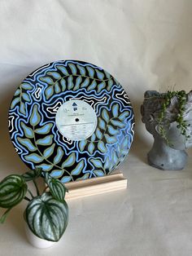
[[[63,183],[110,174],[133,141],[133,108],[103,68],[76,60],[46,64],[15,91],[9,130],[16,152]]]

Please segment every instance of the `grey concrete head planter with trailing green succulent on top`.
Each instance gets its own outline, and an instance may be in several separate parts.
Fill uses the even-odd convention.
[[[141,107],[142,121],[154,137],[148,163],[161,170],[181,170],[192,147],[192,90],[159,93],[147,90]]]

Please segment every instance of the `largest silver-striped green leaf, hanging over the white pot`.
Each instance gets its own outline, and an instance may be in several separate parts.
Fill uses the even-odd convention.
[[[45,192],[29,202],[26,221],[34,235],[47,241],[59,241],[68,226],[68,205]]]

